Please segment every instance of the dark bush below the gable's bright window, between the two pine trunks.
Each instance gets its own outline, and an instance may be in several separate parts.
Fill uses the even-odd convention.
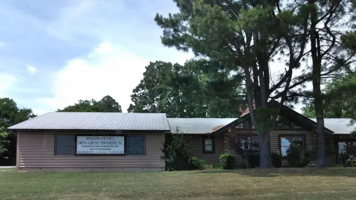
[[[286,153],[290,167],[305,167],[315,160],[312,153],[305,152],[303,148],[298,146],[291,145]]]

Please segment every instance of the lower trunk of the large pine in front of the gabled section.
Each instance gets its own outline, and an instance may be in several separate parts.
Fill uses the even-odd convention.
[[[260,169],[273,168],[269,133],[258,133],[260,147]]]

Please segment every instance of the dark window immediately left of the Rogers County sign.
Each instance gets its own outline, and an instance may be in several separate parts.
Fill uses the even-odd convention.
[[[73,135],[54,136],[54,155],[73,155]]]

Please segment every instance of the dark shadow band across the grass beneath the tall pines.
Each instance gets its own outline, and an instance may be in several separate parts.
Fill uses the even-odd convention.
[[[199,173],[237,173],[250,177],[278,176],[322,176],[356,178],[356,168],[274,168],[274,169],[237,169],[199,171]]]

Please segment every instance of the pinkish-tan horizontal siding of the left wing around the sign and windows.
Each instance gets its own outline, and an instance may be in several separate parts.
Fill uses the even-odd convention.
[[[145,156],[54,156],[56,133],[19,134],[19,168],[37,167],[164,167],[164,134],[146,135]],[[58,134],[58,133],[57,133]],[[63,134],[63,133],[61,133]],[[72,133],[71,133],[72,134]],[[100,134],[100,133],[99,133]],[[98,134],[98,135],[99,135]],[[76,135],[86,135],[78,133]],[[143,135],[143,134],[140,134]]]

